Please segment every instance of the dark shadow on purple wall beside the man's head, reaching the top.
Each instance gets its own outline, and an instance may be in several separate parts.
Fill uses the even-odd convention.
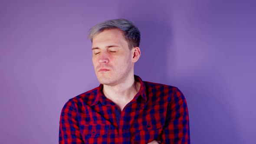
[[[141,31],[141,58],[135,63],[135,75],[168,84],[165,53],[172,42],[170,2],[122,1],[118,8],[118,17],[133,21]]]

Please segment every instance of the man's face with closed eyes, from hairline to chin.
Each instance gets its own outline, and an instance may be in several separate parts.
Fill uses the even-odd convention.
[[[98,81],[117,85],[133,73],[132,50],[119,29],[107,29],[92,39],[92,62]]]

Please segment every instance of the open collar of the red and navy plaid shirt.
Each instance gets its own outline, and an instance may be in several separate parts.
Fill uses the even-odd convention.
[[[134,75],[134,79],[135,81],[137,82],[140,82],[141,86],[140,86],[140,90],[139,92],[135,95],[134,99],[137,100],[137,98],[139,96],[141,96],[145,101],[147,101],[147,95],[146,95],[146,88],[145,88],[145,84],[144,82],[142,81],[142,79],[137,76],[137,75]],[[92,103],[90,104],[90,106],[92,105],[96,105],[98,103],[98,101],[100,101],[102,103],[102,105],[106,105],[107,104],[107,98],[105,97],[105,95],[103,94],[102,92],[103,90],[103,85],[100,84],[97,88],[97,92],[96,92],[96,95],[95,95],[95,98],[92,99]]]

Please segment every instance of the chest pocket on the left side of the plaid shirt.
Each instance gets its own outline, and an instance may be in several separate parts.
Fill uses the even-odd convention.
[[[107,134],[109,133],[109,124],[82,124],[79,128],[79,131],[85,141],[85,144],[97,142],[97,138],[101,138],[101,141],[107,141]]]

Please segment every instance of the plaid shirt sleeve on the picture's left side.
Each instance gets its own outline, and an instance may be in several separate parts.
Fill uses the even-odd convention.
[[[76,109],[69,100],[62,108],[59,121],[59,144],[84,144],[76,117]]]

